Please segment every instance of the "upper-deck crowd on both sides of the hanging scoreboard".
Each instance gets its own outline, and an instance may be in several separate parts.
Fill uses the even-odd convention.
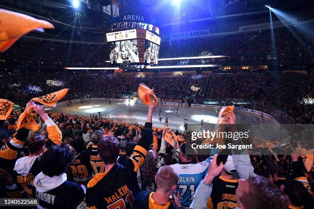
[[[294,34],[293,34],[294,33]],[[160,58],[226,55],[215,59],[217,65],[310,65],[314,42],[308,33],[288,29],[274,31],[276,47],[271,45],[270,31],[210,36],[192,39],[163,40]],[[280,40],[280,41],[279,41]],[[276,59],[270,59],[270,56]],[[2,54],[3,67],[14,69],[60,69],[63,67],[106,67],[109,52],[106,45],[63,43],[22,39]],[[213,60],[160,62],[163,65],[211,64]]]

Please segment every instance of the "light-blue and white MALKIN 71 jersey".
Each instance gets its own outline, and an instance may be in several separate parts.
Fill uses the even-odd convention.
[[[179,174],[178,186],[181,205],[189,207],[199,183],[208,171],[209,158],[200,163],[176,163],[170,165]]]

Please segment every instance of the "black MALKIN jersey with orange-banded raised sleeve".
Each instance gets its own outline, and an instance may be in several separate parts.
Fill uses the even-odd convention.
[[[116,163],[105,173],[96,174],[88,183],[86,200],[88,208],[131,208],[133,193],[139,192],[136,172],[143,164],[147,151],[136,145],[129,162]]]

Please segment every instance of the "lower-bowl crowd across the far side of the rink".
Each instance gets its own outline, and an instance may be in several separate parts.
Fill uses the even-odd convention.
[[[9,72],[9,73],[8,73]],[[6,82],[10,80],[10,82]],[[49,82],[47,83],[47,80]],[[186,100],[202,104],[204,99],[242,107],[272,115],[281,123],[313,123],[312,104],[304,99],[313,98],[312,74],[238,73],[189,76],[114,76],[112,74],[73,73],[71,71],[11,72],[0,75],[1,98],[25,105],[25,101],[43,92],[70,88],[65,100],[83,97],[131,98],[136,96],[140,83],[154,89],[164,101]],[[51,85],[55,83],[57,85]],[[86,85],[91,83],[92,85]],[[59,86],[58,86],[59,85]],[[198,87],[193,91],[191,87]],[[237,106],[237,105],[236,105]]]

